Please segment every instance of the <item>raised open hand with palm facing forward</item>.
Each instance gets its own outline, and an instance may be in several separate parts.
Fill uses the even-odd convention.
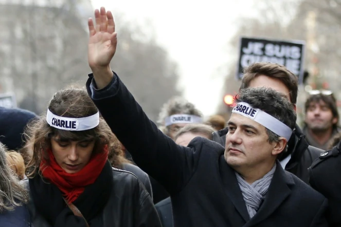
[[[117,46],[117,33],[115,23],[110,11],[105,12],[104,7],[95,10],[96,27],[92,18],[88,20],[89,44],[88,62],[91,68],[107,67],[113,58]]]

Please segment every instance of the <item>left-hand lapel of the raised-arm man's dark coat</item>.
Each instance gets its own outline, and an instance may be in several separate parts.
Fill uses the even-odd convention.
[[[245,201],[240,191],[235,171],[226,163],[224,155],[221,155],[219,158],[219,172],[228,198],[232,201],[244,221],[247,222],[250,217],[247,213]],[[231,211],[227,212],[230,213]]]

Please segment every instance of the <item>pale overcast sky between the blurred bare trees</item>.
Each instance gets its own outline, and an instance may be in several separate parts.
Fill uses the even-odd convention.
[[[227,43],[237,18],[255,15],[253,4],[253,0],[93,0],[95,8],[122,12],[129,20],[152,21],[158,43],[180,66],[185,98],[206,116],[223,100],[224,66],[237,54],[228,52]]]

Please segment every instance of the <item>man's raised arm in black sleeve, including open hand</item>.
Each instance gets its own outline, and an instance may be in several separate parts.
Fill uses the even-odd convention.
[[[194,173],[200,152],[195,152],[193,147],[176,145],[149,120],[110,68],[117,45],[112,13],[102,7],[100,11],[95,10],[95,20],[96,27],[91,18],[88,20],[88,63],[93,71],[86,83],[89,96],[136,164],[169,193],[176,193]]]

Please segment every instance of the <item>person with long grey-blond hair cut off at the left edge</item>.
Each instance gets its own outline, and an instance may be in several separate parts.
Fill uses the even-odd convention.
[[[28,194],[7,164],[6,147],[0,143],[0,226],[29,227]]]

